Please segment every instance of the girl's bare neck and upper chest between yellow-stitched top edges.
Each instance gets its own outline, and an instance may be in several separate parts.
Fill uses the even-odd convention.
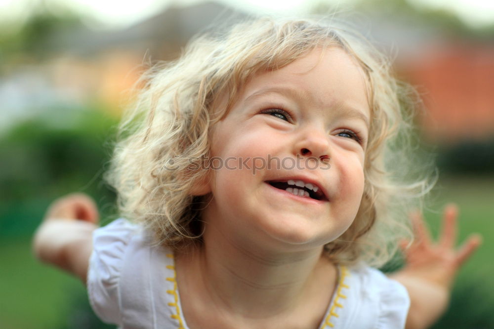
[[[334,266],[322,256],[322,247],[276,252],[235,241],[215,229],[206,229],[204,244],[186,252],[178,257],[188,269],[182,275],[179,272],[179,284],[183,280],[188,291],[201,291],[219,313],[244,319],[310,313],[311,303],[316,303],[322,307],[316,317],[319,321],[337,276]]]

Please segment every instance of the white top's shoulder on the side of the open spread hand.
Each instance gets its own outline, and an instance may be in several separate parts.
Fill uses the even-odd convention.
[[[408,292],[377,269],[365,265],[341,267],[334,299],[337,307],[334,307],[335,300],[332,306],[338,314],[332,318],[335,327],[405,328],[410,307]]]

